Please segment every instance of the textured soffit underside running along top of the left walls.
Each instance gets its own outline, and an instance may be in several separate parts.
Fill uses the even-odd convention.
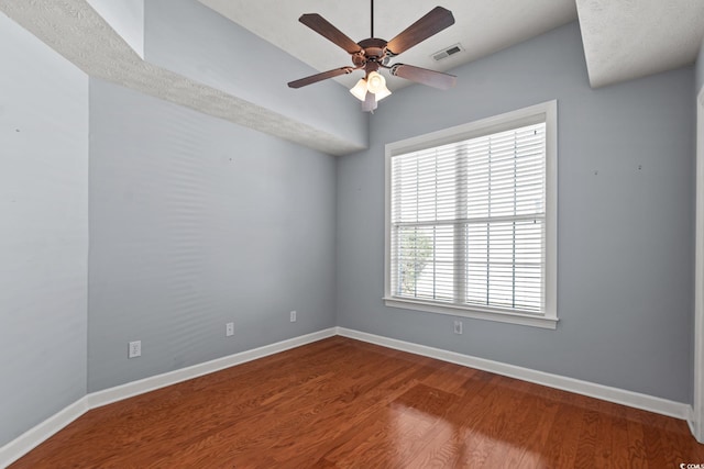
[[[0,11],[87,75],[330,155],[359,146],[143,60],[85,0],[0,0]]]

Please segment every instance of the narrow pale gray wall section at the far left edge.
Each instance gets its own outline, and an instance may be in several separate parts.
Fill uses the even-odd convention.
[[[88,78],[3,14],[0,63],[1,447],[86,393]]]

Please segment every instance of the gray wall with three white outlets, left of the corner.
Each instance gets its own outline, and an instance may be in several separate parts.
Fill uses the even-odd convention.
[[[89,180],[89,391],[334,325],[334,157],[91,79]]]

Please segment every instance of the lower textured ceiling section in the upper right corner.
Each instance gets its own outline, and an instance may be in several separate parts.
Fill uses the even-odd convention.
[[[592,87],[691,64],[704,0],[576,0]]]

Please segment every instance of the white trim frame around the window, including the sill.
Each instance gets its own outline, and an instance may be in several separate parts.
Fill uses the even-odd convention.
[[[546,122],[546,303],[544,314],[522,314],[497,309],[439,304],[392,294],[391,282],[391,170],[392,157],[490,133],[502,132],[520,125],[529,125],[544,119]],[[385,214],[384,214],[384,304],[391,308],[474,317],[502,323],[543,328],[557,328],[558,323],[558,101],[552,100],[517,111],[507,112],[468,124],[444,129],[425,135],[389,143],[385,148]]]

